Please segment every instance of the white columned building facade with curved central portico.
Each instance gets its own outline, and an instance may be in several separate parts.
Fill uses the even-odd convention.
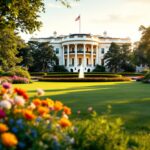
[[[91,72],[96,65],[105,65],[104,55],[112,42],[131,44],[129,38],[111,38],[91,34],[70,34],[49,38],[31,38],[30,41],[49,42],[56,52],[59,65],[64,65],[69,72],[78,72],[80,66],[84,72]]]

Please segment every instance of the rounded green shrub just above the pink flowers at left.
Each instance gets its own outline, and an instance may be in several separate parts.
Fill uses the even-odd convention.
[[[12,76],[20,76],[20,77],[25,77],[25,78],[30,79],[29,72],[20,66],[11,68],[8,73],[10,73]]]

